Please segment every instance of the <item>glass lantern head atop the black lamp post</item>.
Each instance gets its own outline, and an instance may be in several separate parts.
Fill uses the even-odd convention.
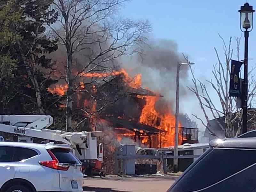
[[[249,3],[245,3],[244,6],[241,6],[241,9],[238,10],[240,12],[240,29],[242,32],[244,32],[243,28],[245,31],[248,31],[248,29],[251,29],[252,31],[253,28],[253,12],[255,12],[252,9],[252,6],[249,5]]]

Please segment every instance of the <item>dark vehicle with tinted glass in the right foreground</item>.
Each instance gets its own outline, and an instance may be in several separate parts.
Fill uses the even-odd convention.
[[[256,192],[256,138],[210,141],[167,192]]]

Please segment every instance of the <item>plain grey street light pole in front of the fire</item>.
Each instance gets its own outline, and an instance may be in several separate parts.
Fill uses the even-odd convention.
[[[176,75],[176,109],[175,109],[175,138],[174,138],[174,158],[173,167],[174,172],[178,171],[178,134],[179,134],[179,100],[180,100],[180,63],[177,63]]]

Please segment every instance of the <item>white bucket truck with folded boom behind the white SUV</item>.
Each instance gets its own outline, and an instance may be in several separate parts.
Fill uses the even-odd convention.
[[[84,174],[97,172],[102,176],[102,143],[97,152],[97,137],[101,131],[65,132],[47,129],[52,123],[52,116],[46,115],[0,115],[0,132],[18,135],[18,142],[33,142],[33,138],[62,142],[61,145],[72,148],[74,155],[82,162]]]

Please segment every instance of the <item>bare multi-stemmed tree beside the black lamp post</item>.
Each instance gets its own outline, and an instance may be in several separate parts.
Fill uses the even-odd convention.
[[[201,123],[205,126],[205,128],[212,134],[213,130],[210,126],[210,116],[212,116],[213,120],[218,124],[221,128],[223,133],[226,137],[235,137],[240,134],[241,131],[241,118],[242,118],[242,111],[241,109],[237,108],[236,106],[236,99],[228,96],[228,89],[229,89],[229,76],[230,76],[230,67],[229,63],[233,56],[233,49],[231,48],[232,38],[229,38],[229,43],[226,45],[224,39],[218,34],[220,39],[222,40],[223,51],[225,56],[225,62],[221,62],[220,56],[218,54],[217,49],[214,47],[214,51],[216,53],[216,57],[218,63],[213,65],[212,74],[214,77],[214,81],[212,80],[205,80],[206,83],[210,85],[208,87],[202,81],[198,80],[194,76],[194,72],[190,67],[190,71],[192,74],[192,82],[193,87],[188,87],[188,89],[196,95],[197,100],[199,101],[199,106],[203,111],[204,117],[206,119],[206,123],[199,118],[198,116],[194,115]],[[237,58],[239,60],[239,50],[240,50],[240,40],[241,36],[238,38],[236,37],[236,52]],[[184,55],[183,55],[184,56]],[[185,58],[185,56],[184,56]],[[254,71],[255,68],[252,68]],[[251,76],[251,82],[249,84],[249,94],[248,94],[248,101],[249,106],[252,106],[253,97],[256,94],[256,83],[253,80],[252,71],[249,72]],[[198,89],[198,86],[201,89]],[[209,89],[212,88],[215,94],[210,94]],[[214,95],[214,96],[213,96]],[[219,100],[218,103],[213,102],[213,97]],[[210,112],[210,114],[208,113]],[[253,117],[248,120],[252,121]],[[224,126],[223,126],[224,124]],[[235,129],[235,125],[237,124],[237,128]]]

